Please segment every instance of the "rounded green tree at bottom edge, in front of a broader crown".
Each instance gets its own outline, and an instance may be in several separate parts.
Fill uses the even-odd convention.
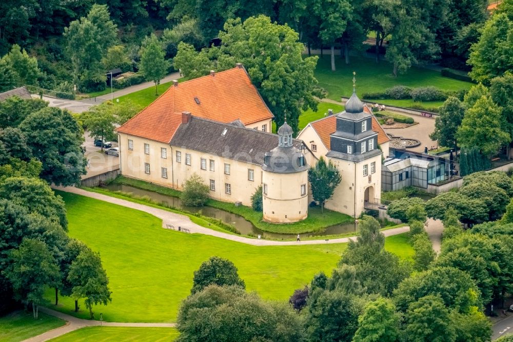
[[[438,296],[425,296],[412,302],[406,313],[408,341],[454,342],[456,332],[449,319],[449,310]]]

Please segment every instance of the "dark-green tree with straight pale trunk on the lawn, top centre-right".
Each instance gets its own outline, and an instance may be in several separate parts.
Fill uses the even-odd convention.
[[[347,0],[317,0],[312,3],[312,12],[322,18],[319,37],[324,44],[331,45],[331,71],[336,71],[334,44],[342,37],[347,22],[351,20],[351,5]]]

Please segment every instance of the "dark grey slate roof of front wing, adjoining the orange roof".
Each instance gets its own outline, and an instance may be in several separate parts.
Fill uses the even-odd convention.
[[[278,146],[278,136],[239,127],[236,124],[225,124],[193,116],[188,123],[181,124],[176,129],[169,144],[262,165],[265,153]],[[292,144],[296,148],[304,145],[302,140],[297,139],[294,139]]]

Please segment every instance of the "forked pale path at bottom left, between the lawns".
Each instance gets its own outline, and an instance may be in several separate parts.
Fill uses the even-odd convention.
[[[160,327],[160,328],[175,328],[176,324],[174,323],[127,323],[127,322],[102,322],[99,320],[88,320],[88,319],[82,319],[77,318],[68,314],[65,314],[60,311],[39,307],[39,311],[44,312],[48,315],[55,316],[61,319],[64,319],[67,321],[66,325],[62,327],[58,327],[55,329],[52,329],[50,331],[47,331],[41,335],[37,335],[31,338],[28,338],[25,340],[25,342],[42,342],[47,341],[49,339],[62,336],[64,334],[67,334],[69,332],[82,329],[85,327],[98,327],[98,326],[104,326],[104,327],[143,327],[143,328],[150,328],[150,327]]]

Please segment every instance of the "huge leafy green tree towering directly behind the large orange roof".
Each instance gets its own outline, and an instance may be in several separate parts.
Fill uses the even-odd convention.
[[[190,79],[206,75],[209,70],[226,70],[235,63],[243,63],[251,82],[275,113],[277,126],[283,125],[286,116],[297,133],[301,109],[317,110],[318,99],[324,97],[313,75],[318,58],[303,59],[304,45],[298,41],[298,33],[260,15],[249,17],[244,23],[239,19],[228,20],[219,37],[220,47],[201,52],[179,44],[174,68],[181,69]]]

